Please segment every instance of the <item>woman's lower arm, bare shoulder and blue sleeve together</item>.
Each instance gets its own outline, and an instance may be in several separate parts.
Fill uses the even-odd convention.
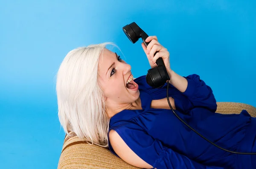
[[[123,161],[140,168],[151,169],[222,169],[204,166],[172,151],[142,131],[111,130],[110,143]],[[125,143],[124,140],[127,140]]]

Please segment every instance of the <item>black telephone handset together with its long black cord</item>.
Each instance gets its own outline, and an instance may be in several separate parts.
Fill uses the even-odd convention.
[[[140,38],[142,38],[144,44],[146,46],[148,46],[149,42],[145,42],[145,39],[147,39],[148,35],[135,23],[130,23],[129,25],[125,25],[123,28],[123,31],[125,32],[126,36],[128,37],[128,39],[131,40],[132,43],[137,42]],[[156,52],[157,53],[157,52]],[[155,53],[155,54],[156,54]],[[154,55],[155,55],[154,54]],[[161,87],[163,86],[167,81],[170,80],[170,77],[167,73],[166,67],[164,65],[163,62],[163,58],[158,58],[157,61],[157,66],[154,68],[151,68],[148,70],[148,73],[146,75],[146,81],[148,83],[148,85],[150,85],[151,87]],[[168,95],[168,89],[169,89],[169,82],[167,83],[167,101],[169,104],[169,107],[172,109],[172,112],[176,115],[176,117],[183,122],[187,127],[189,127],[191,130],[193,130],[196,134],[198,134],[199,136],[201,136],[202,138],[204,138],[206,141],[208,141],[210,144],[218,147],[219,149],[222,149],[224,151],[227,152],[231,152],[234,154],[243,154],[243,155],[256,155],[256,152],[234,152],[234,151],[230,151],[227,149],[224,149],[214,143],[212,143],[212,141],[209,141],[207,138],[205,138],[203,135],[201,135],[200,133],[198,133],[195,129],[193,129],[192,127],[190,127],[188,124],[185,123],[185,121],[183,121],[173,110],[172,105],[169,101],[169,95]]]

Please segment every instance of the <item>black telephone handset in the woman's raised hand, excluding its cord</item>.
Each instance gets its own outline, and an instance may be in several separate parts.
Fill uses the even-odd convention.
[[[148,46],[149,42],[145,42],[148,34],[146,34],[135,22],[130,23],[129,25],[125,25],[122,30],[125,32],[125,35],[128,37],[128,39],[131,40],[132,43],[135,43],[140,38],[142,38],[145,46]],[[157,54],[157,52],[155,54]],[[148,70],[146,81],[151,87],[158,88],[169,81],[170,77],[164,65],[163,58],[158,58],[156,64],[156,67]]]

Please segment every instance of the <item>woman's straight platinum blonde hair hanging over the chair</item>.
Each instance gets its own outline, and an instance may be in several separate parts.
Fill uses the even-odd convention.
[[[105,42],[70,51],[56,79],[58,117],[65,133],[75,132],[79,138],[104,147],[108,146],[109,118],[98,83],[98,64],[106,45],[116,46]]]

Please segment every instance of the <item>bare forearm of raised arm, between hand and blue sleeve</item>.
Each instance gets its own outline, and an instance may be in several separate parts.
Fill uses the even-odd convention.
[[[180,92],[185,92],[188,87],[188,81],[183,76],[178,75],[173,70],[168,71],[170,80],[169,83],[177,88]]]

